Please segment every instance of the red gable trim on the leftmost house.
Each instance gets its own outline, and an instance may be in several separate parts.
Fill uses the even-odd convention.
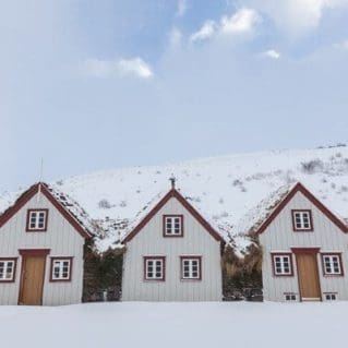
[[[17,213],[38,191],[47,197],[47,200],[61,213],[61,215],[72,225],[72,227],[83,237],[91,238],[92,236],[80,225],[80,223],[62,206],[60,202],[48,191],[47,184],[43,182],[35,183],[25,191],[15,202],[0,216],[0,228]]]

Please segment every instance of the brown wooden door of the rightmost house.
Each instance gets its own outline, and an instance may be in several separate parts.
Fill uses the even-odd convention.
[[[297,254],[296,257],[301,300],[320,301],[321,287],[319,280],[316,254]]]

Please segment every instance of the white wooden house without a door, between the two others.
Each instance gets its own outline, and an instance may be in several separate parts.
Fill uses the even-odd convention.
[[[220,235],[172,189],[124,238],[123,301],[220,301]]]

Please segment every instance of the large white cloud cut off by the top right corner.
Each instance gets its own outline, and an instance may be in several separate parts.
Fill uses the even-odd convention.
[[[250,0],[267,13],[278,27],[300,35],[316,28],[327,10],[343,9],[348,0]]]

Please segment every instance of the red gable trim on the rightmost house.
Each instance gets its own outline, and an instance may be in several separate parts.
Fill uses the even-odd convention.
[[[271,223],[278,216],[284,207],[290,202],[297,192],[301,192],[310,202],[312,202],[328,219],[331,219],[343,232],[348,233],[348,226],[344,224],[336,215],[334,215],[322,202],[320,202],[302,183],[298,182],[293,189],[286,195],[286,197],[278,204],[273,213],[256,230],[256,233],[262,233],[271,225]]]

